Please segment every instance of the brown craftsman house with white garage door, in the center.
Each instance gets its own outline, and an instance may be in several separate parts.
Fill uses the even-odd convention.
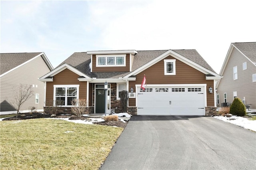
[[[63,112],[72,99],[86,99],[90,113],[104,113],[107,82],[107,113],[122,112],[119,93],[126,90],[132,115],[209,115],[216,111],[220,79],[195,49],[169,49],[77,52],[40,81],[46,82],[46,101],[64,101]]]

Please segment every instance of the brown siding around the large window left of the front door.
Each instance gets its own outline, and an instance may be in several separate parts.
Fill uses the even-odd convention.
[[[78,81],[78,77],[79,75],[69,69],[65,69],[54,75],[53,82],[47,82],[46,84],[46,101],[53,100],[54,85],[79,85],[79,99],[86,99],[87,82]]]

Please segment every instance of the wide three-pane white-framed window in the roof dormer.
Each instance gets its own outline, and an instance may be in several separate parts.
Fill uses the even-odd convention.
[[[126,55],[96,55],[96,67],[121,67],[126,66]]]

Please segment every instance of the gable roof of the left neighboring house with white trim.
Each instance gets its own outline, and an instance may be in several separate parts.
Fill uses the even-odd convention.
[[[36,53],[0,53],[0,75],[5,75],[10,71],[28,63],[32,59],[41,56],[43,57],[44,61],[50,68],[53,70],[53,67],[43,52],[36,52]]]

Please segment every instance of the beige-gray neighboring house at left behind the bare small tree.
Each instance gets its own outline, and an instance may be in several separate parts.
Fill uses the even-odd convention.
[[[0,115],[16,113],[11,105],[14,100],[14,88],[20,84],[32,85],[33,96],[26,101],[20,113],[26,113],[30,107],[43,111],[45,89],[38,78],[53,70],[50,61],[43,52],[38,53],[0,53]]]

